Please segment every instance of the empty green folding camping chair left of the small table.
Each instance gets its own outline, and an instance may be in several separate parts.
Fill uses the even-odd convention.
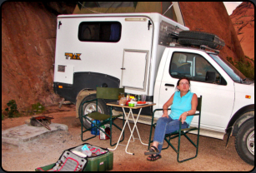
[[[83,101],[82,106],[81,106],[82,110],[80,110],[82,112],[82,115],[83,115],[83,104],[88,103],[88,102],[96,101],[96,111],[85,114],[80,118],[80,121],[82,124],[81,125],[81,140],[82,141],[88,141],[89,139],[92,139],[97,136],[97,133],[96,133],[96,135],[93,137],[88,137],[87,139],[83,139],[83,133],[85,133],[86,131],[91,131],[94,127],[97,128],[99,131],[103,131],[100,127],[105,124],[110,124],[110,135],[108,135],[105,131],[103,131],[103,133],[110,138],[110,146],[114,146],[117,144],[117,142],[112,144],[112,125],[116,126],[118,128],[118,130],[122,131],[122,128],[120,128],[115,123],[113,123],[113,121],[115,119],[117,119],[119,116],[123,116],[123,125],[124,125],[124,115],[120,114],[118,116],[113,116],[112,115],[112,107],[110,109],[110,115],[100,113],[98,111],[98,100],[99,99],[108,99],[108,101],[109,100],[117,101],[119,92],[124,93],[124,88],[97,87],[96,98],[93,100],[90,100],[90,101]],[[83,131],[83,118],[90,121],[94,126],[91,126],[88,129],[86,129],[84,127],[85,130]],[[97,124],[96,122],[94,123],[93,120],[98,120],[98,121],[100,121],[100,123],[99,124]],[[123,138],[124,138],[124,133],[123,133]],[[121,140],[121,141],[123,141],[123,140]]]

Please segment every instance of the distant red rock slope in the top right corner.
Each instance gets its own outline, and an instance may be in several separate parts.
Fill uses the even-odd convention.
[[[254,6],[252,2],[242,2],[230,15],[233,27],[243,52],[254,59]]]

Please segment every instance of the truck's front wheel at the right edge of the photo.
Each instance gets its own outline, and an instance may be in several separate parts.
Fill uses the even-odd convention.
[[[254,166],[254,118],[248,119],[239,127],[235,148],[243,161]]]

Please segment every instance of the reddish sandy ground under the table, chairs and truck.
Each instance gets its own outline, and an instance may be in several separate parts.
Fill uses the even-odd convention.
[[[34,171],[39,166],[47,166],[58,161],[64,150],[83,144],[80,137],[81,124],[75,117],[75,106],[63,105],[60,109],[58,106],[49,106],[45,115],[52,115],[54,117],[52,121],[55,123],[67,125],[68,131],[55,131],[19,146],[2,144],[4,171]],[[2,121],[2,131],[23,125],[24,121],[30,117],[5,119]],[[116,120],[116,122],[122,123],[121,120]],[[150,126],[138,123],[138,130],[143,142],[148,143]],[[117,141],[119,132],[116,129],[113,132],[113,141]],[[127,143],[129,135],[127,127],[123,144]],[[90,133],[84,136],[90,136]],[[138,137],[136,132],[134,136]],[[194,135],[189,136],[195,139]],[[143,152],[148,149],[148,146],[143,146],[139,140],[135,140],[128,146],[128,151],[134,152],[135,155],[126,154],[125,146],[118,146],[117,150],[113,151],[113,171],[252,171],[253,166],[245,163],[235,151],[234,138],[229,140],[227,149],[225,139],[226,136],[224,141],[200,136],[198,157],[183,163],[178,163],[177,155],[171,148],[162,151],[162,159],[147,161]],[[110,147],[109,140],[99,140],[98,137],[87,142],[104,148]],[[173,143],[177,144],[177,141]],[[194,147],[189,146],[186,139],[183,139],[181,150],[185,152],[185,155],[181,154],[181,156],[193,156],[195,152]]]

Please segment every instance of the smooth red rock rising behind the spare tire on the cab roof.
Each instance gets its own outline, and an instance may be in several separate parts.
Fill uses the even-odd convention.
[[[223,2],[179,2],[179,6],[190,30],[201,29],[201,32],[211,32],[224,40],[226,46],[220,51],[221,57],[235,60],[244,57]]]

